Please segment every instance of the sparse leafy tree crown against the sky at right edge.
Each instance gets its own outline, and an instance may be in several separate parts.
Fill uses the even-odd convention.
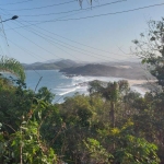
[[[141,39],[134,39],[134,55],[147,63],[157,83],[164,87],[164,19],[149,21],[149,32],[141,33]]]

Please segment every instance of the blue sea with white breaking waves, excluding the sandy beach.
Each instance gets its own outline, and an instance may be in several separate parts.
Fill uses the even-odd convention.
[[[26,84],[28,89],[35,90],[40,77],[37,90],[42,86],[47,86],[50,92],[56,96],[54,103],[61,103],[66,97],[73,96],[74,93],[87,94],[89,81],[102,80],[102,81],[118,81],[121,78],[108,78],[108,77],[72,77],[68,78],[58,70],[30,70],[26,71]]]

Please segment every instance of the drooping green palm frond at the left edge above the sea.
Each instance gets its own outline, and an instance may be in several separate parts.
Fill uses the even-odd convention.
[[[25,80],[24,68],[17,60],[15,60],[13,58],[8,58],[8,57],[3,56],[0,59],[0,71],[10,72],[10,73],[16,75],[20,80],[22,80],[22,81]]]

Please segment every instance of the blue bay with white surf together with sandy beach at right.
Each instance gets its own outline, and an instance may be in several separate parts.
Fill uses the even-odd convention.
[[[118,77],[102,77],[102,75],[72,75],[67,77],[65,73],[61,73],[56,70],[39,70],[37,71],[42,77],[39,87],[47,86],[56,96],[54,102],[58,101],[63,102],[65,97],[73,96],[74,93],[87,94],[89,82],[94,80],[99,80],[104,82],[114,82],[119,80],[127,80],[132,91],[139,92],[141,95],[144,95],[145,92],[149,92],[147,86],[147,80],[131,80],[126,78]],[[36,83],[38,82],[39,77],[36,75],[35,71],[26,71],[26,83],[27,87],[35,90]],[[143,85],[143,87],[142,87]],[[145,86],[145,87],[144,87]]]

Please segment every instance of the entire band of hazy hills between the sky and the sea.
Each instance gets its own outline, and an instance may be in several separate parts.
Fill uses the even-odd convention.
[[[70,59],[23,63],[25,70],[59,70],[67,77],[90,75],[90,77],[116,77],[131,80],[154,79],[149,71],[145,71],[137,62],[103,62],[103,63],[80,63]]]

